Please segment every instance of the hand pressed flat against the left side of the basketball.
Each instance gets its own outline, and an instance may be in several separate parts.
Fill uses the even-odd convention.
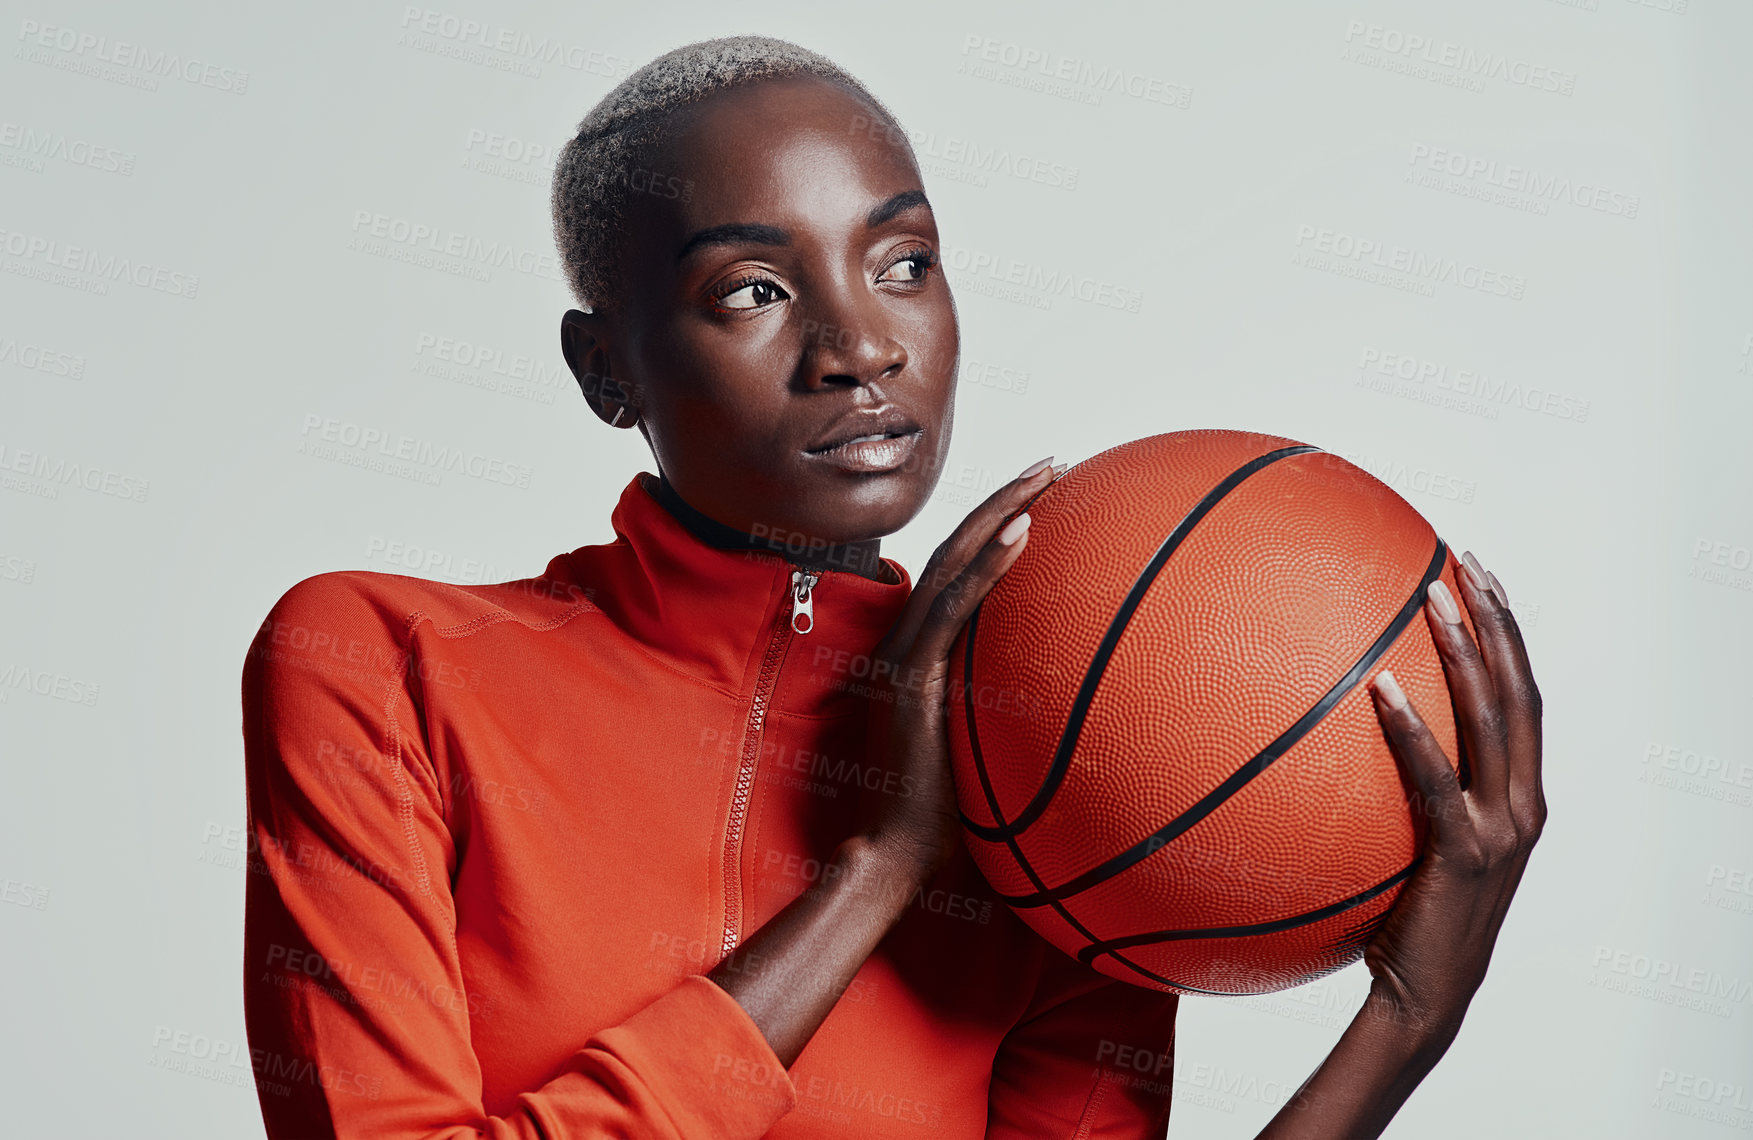
[[[943,716],[950,647],[1027,545],[1029,516],[1015,512],[1064,474],[1048,463],[1052,456],[994,491],[938,545],[873,654],[871,673],[884,677],[884,698],[871,703],[873,756],[884,756],[913,793],[884,796],[866,837],[894,859],[896,873],[915,882],[948,861],[961,835]]]

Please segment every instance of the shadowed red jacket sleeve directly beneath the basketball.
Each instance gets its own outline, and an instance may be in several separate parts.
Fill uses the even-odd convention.
[[[1178,1001],[1047,945],[1034,998],[992,1059],[987,1140],[1166,1136]]]

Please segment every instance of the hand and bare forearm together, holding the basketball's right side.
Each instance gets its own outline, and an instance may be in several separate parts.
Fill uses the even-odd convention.
[[[1376,675],[1376,716],[1429,821],[1423,858],[1364,951],[1374,982],[1320,1068],[1260,1140],[1378,1136],[1443,1058],[1485,980],[1492,945],[1546,826],[1541,700],[1522,631],[1494,575],[1462,556],[1460,609],[1430,586],[1425,619],[1443,658],[1469,782],[1430,737],[1392,673]]]

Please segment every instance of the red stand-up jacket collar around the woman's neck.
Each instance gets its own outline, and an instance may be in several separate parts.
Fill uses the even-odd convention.
[[[610,524],[615,542],[563,554],[547,575],[591,591],[593,603],[649,652],[738,693],[754,688],[775,623],[791,614],[792,570],[819,574],[815,628],[791,635],[785,666],[787,673],[813,679],[805,686],[810,691],[785,686],[806,705],[847,688],[847,666],[833,666],[831,654],[869,652],[912,593],[906,568],[891,558],[882,563],[892,570],[892,582],[834,568],[834,558],[845,565],[843,549],[787,549],[777,538],[724,526],[682,503],[649,472],[621,491]]]

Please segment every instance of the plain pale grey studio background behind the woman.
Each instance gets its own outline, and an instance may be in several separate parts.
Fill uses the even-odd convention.
[[[610,538],[654,468],[564,372],[552,156],[742,32],[901,116],[947,242],[954,456],[887,554],[1048,452],[1241,426],[1502,577],[1551,821],[1390,1135],[1753,1128],[1753,7],[433,2],[4,5],[11,1131],[261,1135],[244,651],[312,574]],[[1366,984],[1183,1000],[1171,1135],[1252,1136]]]

